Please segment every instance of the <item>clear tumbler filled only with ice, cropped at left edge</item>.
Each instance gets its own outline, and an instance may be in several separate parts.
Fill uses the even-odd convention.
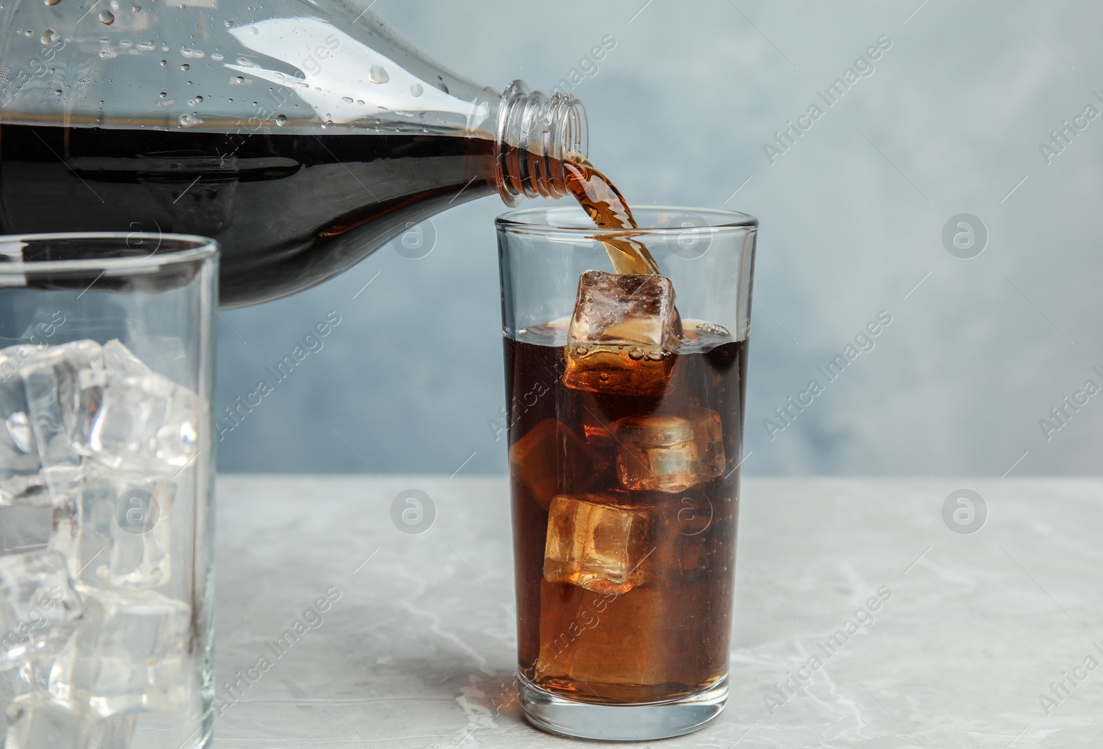
[[[217,246],[0,236],[7,749],[211,743]]]

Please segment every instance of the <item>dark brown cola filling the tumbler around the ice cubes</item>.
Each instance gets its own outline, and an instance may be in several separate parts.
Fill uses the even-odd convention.
[[[728,671],[746,343],[690,325],[684,335],[655,397],[565,386],[563,328],[542,325],[505,341],[518,670],[564,697],[662,702],[708,688]],[[690,407],[719,415],[722,472],[675,494],[624,491],[622,446],[610,425]],[[515,446],[531,432],[536,439],[520,456]],[[557,494],[603,495],[647,514],[641,584],[596,592],[546,579],[548,510]]]

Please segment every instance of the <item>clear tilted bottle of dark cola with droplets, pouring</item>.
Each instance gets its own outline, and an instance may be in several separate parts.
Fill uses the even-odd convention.
[[[570,95],[480,86],[367,0],[44,0],[4,10],[0,233],[199,234],[226,307],[283,297],[497,193],[560,197]]]

